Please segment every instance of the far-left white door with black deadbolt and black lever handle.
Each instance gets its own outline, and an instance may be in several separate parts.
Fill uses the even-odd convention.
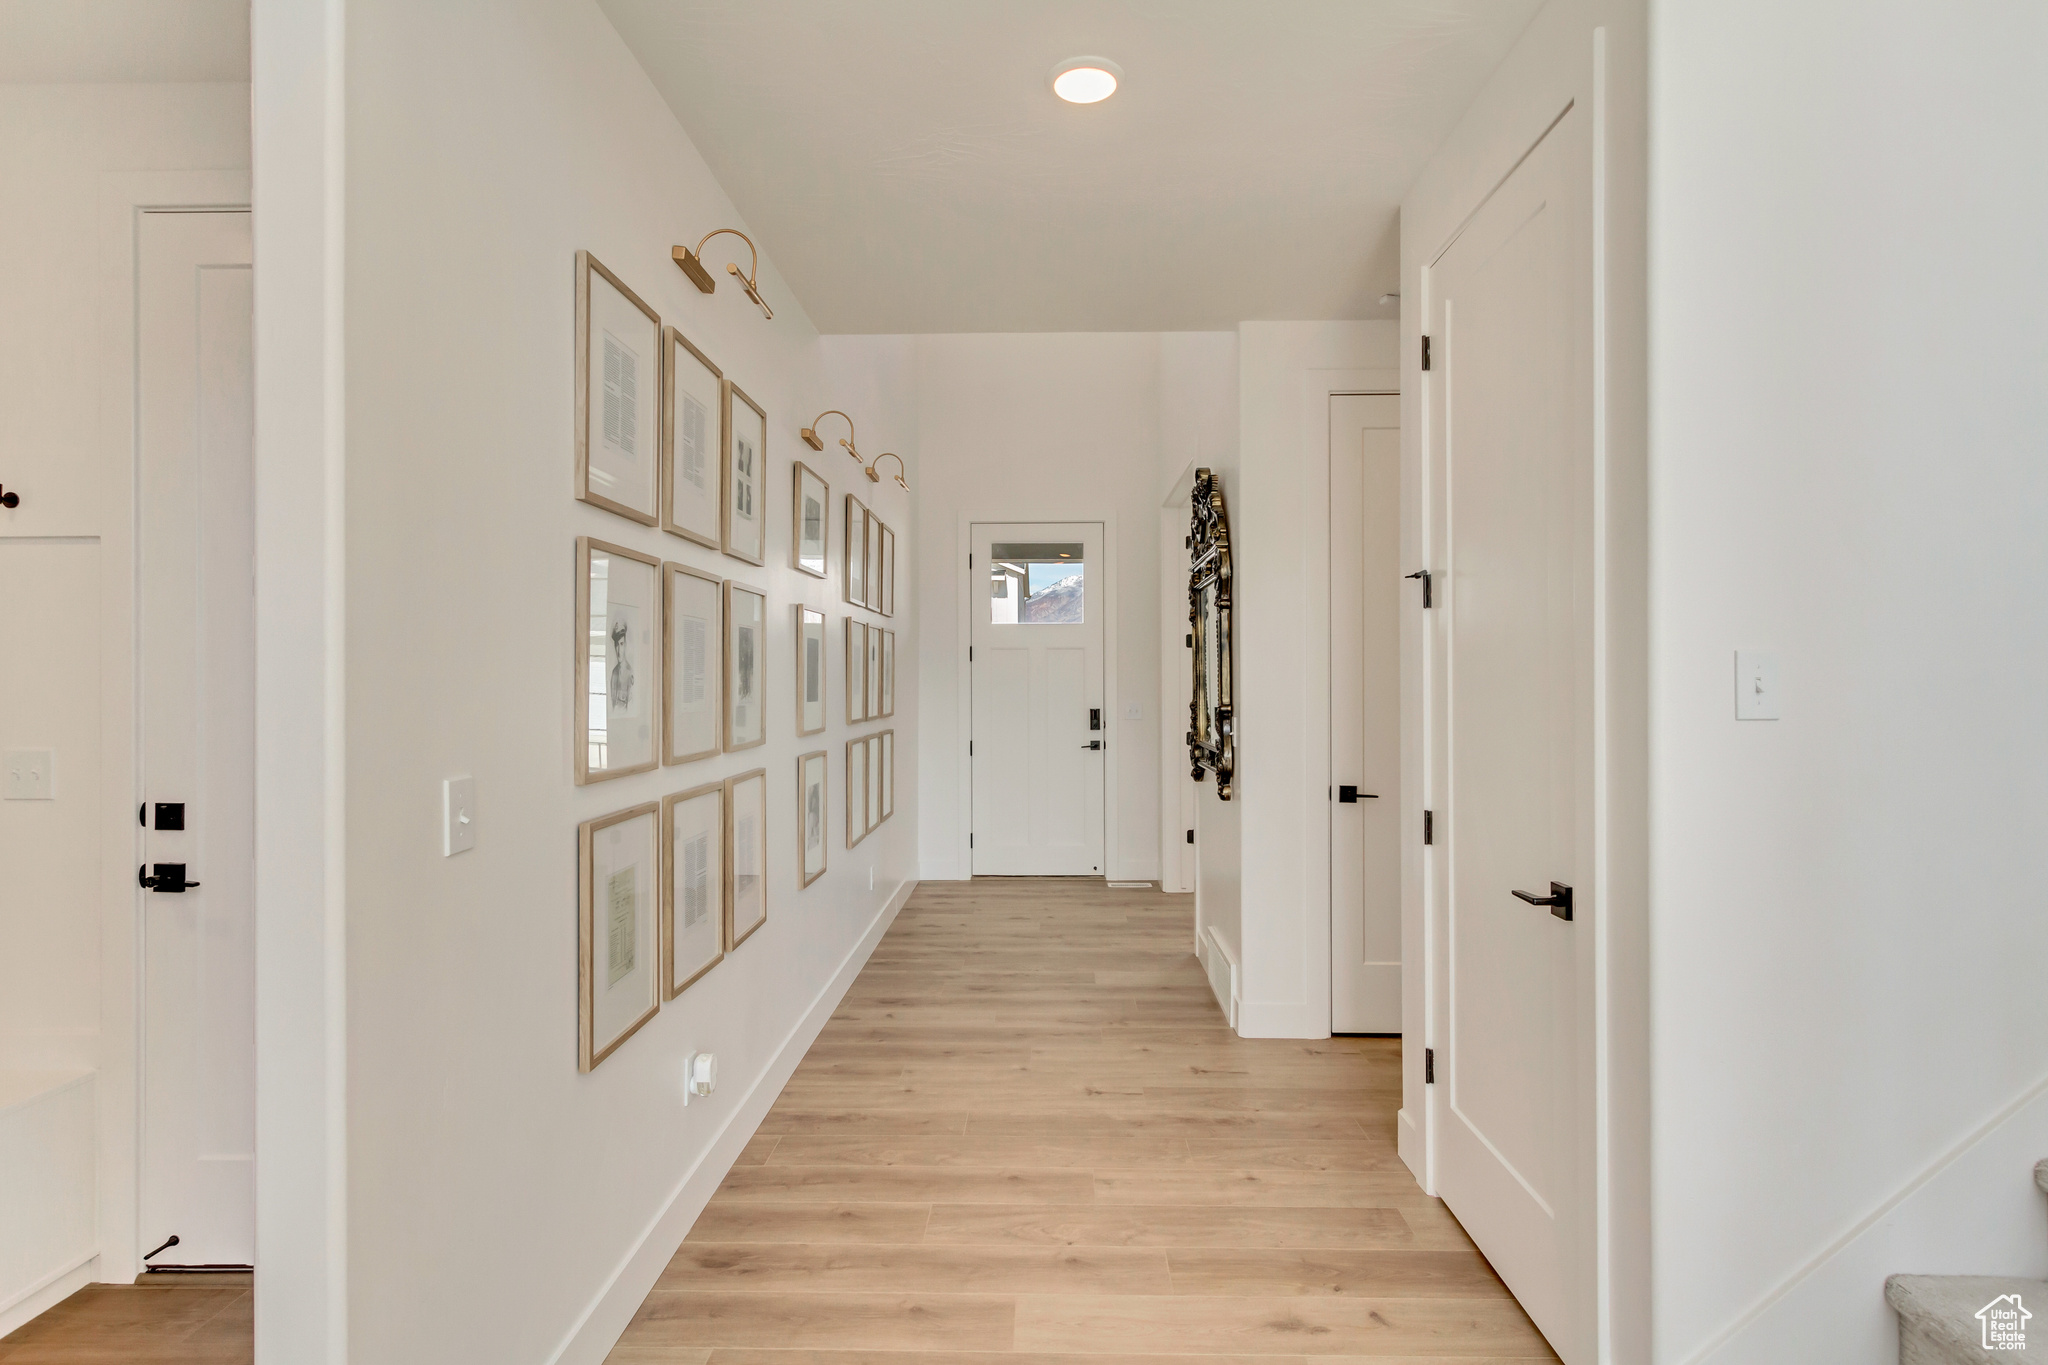
[[[246,213],[145,213],[141,1238],[256,1257],[256,573]],[[162,804],[158,804],[162,802]],[[137,878],[141,880],[141,878]],[[178,890],[184,882],[197,886]]]

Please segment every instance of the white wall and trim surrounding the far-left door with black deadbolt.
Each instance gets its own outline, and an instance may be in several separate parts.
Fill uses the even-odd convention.
[[[0,1070],[100,1072],[109,1279],[139,1252],[133,209],[246,203],[248,164],[246,84],[0,84],[0,749],[57,759],[53,802],[0,802]]]

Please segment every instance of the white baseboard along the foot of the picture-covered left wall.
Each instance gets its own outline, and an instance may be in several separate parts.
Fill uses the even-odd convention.
[[[584,1310],[582,1320],[569,1328],[563,1342],[547,1357],[549,1365],[602,1365],[604,1357],[618,1345],[627,1324],[633,1322],[633,1314],[662,1277],[662,1269],[676,1254],[676,1248],[682,1246],[682,1238],[690,1234],[696,1216],[711,1203],[711,1195],[733,1169],[733,1162],[739,1160],[739,1152],[745,1150],[762,1119],[768,1117],[768,1109],[774,1107],[776,1097],[797,1070],[803,1054],[817,1042],[825,1021],[831,1019],[831,1011],[840,1007],[840,999],[854,984],[854,978],[860,976],[860,968],[868,964],[874,945],[889,933],[889,925],[895,923],[897,911],[903,909],[913,890],[918,890],[918,882],[903,882],[895,888],[874,917],[874,923],[868,925],[860,941],[846,954],[840,970],[831,974],[831,980],[825,982],[823,990],[811,1001],[811,1007],[797,1019],[788,1038],[776,1048],[774,1058],[754,1083],[754,1089],[733,1105],[733,1115],[725,1119],[725,1128],[719,1130],[719,1136],[711,1140],[705,1154],[682,1177],[676,1193],[668,1197],[668,1205],[655,1214],[647,1232],[641,1234],[633,1250],[612,1271],[604,1289]]]

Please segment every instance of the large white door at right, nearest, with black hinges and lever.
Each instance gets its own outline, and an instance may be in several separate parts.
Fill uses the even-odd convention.
[[[1438,1193],[1567,1361],[1595,1314],[1585,115],[1427,272]],[[1567,907],[1532,905],[1552,882]]]

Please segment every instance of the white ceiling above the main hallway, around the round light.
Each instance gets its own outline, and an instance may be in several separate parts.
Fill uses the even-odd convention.
[[[1538,8],[598,2],[821,332],[1393,315],[1401,194]],[[1102,104],[1049,90],[1083,53]]]

